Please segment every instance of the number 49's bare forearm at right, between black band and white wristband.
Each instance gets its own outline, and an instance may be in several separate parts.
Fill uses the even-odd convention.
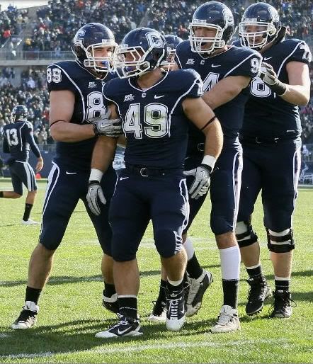
[[[220,121],[215,118],[215,120],[207,125],[203,130],[205,134],[205,155],[210,155],[217,159],[223,147],[223,132],[220,125]]]

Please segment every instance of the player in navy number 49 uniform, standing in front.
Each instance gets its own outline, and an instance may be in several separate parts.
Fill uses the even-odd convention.
[[[198,198],[210,184],[210,165],[222,149],[222,130],[202,95],[197,72],[164,72],[166,41],[156,30],[138,28],[125,35],[116,62],[120,79],[103,87],[112,103],[113,118],[123,120],[127,139],[125,171],[120,174],[111,200],[109,220],[113,229],[114,282],[120,321],[98,338],[142,334],[137,316],[139,271],[136,252],[149,220],[154,241],[166,268],[166,327],[178,331],[185,321],[183,275],[186,252],[182,232],[188,223],[188,191],[183,163],[190,120],[205,135],[204,156],[199,161],[191,195]],[[105,202],[98,181],[110,163],[115,140],[100,137],[93,151],[87,200],[96,214],[98,198]],[[104,191],[105,192],[105,191]]]

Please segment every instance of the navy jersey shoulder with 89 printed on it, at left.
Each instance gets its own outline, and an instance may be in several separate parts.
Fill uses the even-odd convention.
[[[75,81],[81,77],[81,69],[74,61],[56,62],[47,67],[48,91],[75,91]]]

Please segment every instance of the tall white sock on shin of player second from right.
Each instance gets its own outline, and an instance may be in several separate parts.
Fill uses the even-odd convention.
[[[238,245],[220,249],[221,271],[223,280],[239,280],[240,249]]]

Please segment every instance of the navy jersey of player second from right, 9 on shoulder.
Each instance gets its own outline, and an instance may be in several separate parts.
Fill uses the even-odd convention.
[[[209,91],[221,79],[227,76],[254,77],[259,74],[261,55],[247,48],[230,46],[224,52],[212,57],[204,57],[191,51],[190,42],[185,40],[176,48],[176,63],[181,69],[192,68],[203,80],[203,91]],[[237,137],[244,116],[244,105],[248,99],[248,89],[241,91],[232,101],[214,110],[220,120],[224,137]],[[203,133],[190,128],[190,139],[202,142]]]

